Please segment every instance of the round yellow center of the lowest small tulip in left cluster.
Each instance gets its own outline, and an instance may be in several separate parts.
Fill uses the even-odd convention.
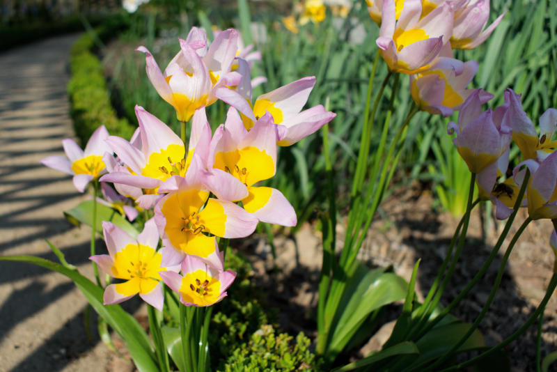
[[[182,278],[180,293],[185,302],[199,306],[214,304],[221,295],[221,282],[204,270],[189,272]]]

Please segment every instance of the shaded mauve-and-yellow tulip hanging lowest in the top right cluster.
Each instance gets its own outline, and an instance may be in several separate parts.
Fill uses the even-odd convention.
[[[473,93],[473,89],[466,89],[466,86],[476,75],[478,62],[450,60],[450,63],[443,61],[431,70],[410,76],[410,93],[414,102],[430,114],[450,116]],[[485,103],[489,99],[490,95],[483,95],[480,101]]]

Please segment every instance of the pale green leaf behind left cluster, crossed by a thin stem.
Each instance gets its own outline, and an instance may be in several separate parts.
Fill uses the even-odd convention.
[[[87,200],[79,204],[79,206],[74,207],[70,210],[64,212],[65,217],[75,226],[81,226],[81,224],[86,224],[92,226],[93,224],[93,201]],[[97,203],[97,232],[102,234],[102,222],[109,221],[121,228],[123,231],[128,233],[132,238],[136,238],[138,231],[130,222],[116,212],[112,208],[103,206]]]

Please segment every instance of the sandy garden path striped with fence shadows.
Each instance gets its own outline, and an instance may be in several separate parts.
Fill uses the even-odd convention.
[[[0,54],[0,254],[55,260],[49,239],[90,275],[91,230],[73,228],[62,215],[87,196],[70,176],[39,163],[63,155],[61,140],[73,136],[66,84],[76,39],[59,36]],[[86,339],[85,307],[62,275],[0,263],[0,370],[106,370],[111,355],[97,338]]]

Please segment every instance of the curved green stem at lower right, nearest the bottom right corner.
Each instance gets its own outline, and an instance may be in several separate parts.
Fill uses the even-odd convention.
[[[518,238],[520,237],[520,235],[522,234],[522,232],[530,222],[532,222],[532,219],[530,217],[526,218],[526,220],[524,220],[524,222],[519,227],[518,231],[515,233],[515,236],[512,237],[512,240],[510,241],[509,246],[507,247],[507,250],[503,255],[503,260],[501,261],[501,265],[499,265],[499,271],[497,272],[497,277],[495,278],[495,282],[492,286],[492,290],[489,293],[489,297],[487,297],[487,301],[485,302],[482,311],[480,311],[480,315],[478,315],[478,318],[474,320],[474,323],[466,332],[466,334],[464,334],[464,336],[462,336],[462,338],[457,343],[455,343],[455,345],[452,348],[450,348],[450,350],[448,350],[448,352],[446,352],[445,355],[443,355],[440,359],[437,359],[437,361],[434,362],[434,364],[428,366],[427,369],[422,371],[430,371],[434,367],[439,366],[439,364],[443,363],[448,357],[450,357],[450,355],[453,354],[453,352],[455,352],[455,350],[458,350],[458,348],[460,348],[460,346],[462,346],[462,344],[466,342],[466,340],[476,330],[476,328],[478,328],[478,325],[480,325],[483,318],[485,317],[485,314],[489,310],[489,307],[491,307],[492,305],[497,289],[499,289],[499,284],[501,284],[501,279],[503,279],[503,274],[505,273],[505,267],[507,266],[507,261],[510,256],[510,252],[515,247]]]

